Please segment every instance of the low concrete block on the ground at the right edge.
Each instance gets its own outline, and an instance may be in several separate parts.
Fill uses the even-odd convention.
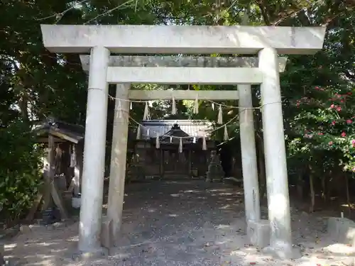
[[[339,243],[355,246],[355,222],[348,218],[330,217],[327,232]]]

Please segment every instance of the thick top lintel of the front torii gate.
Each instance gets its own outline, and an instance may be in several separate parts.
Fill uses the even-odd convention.
[[[114,53],[314,54],[322,49],[325,27],[41,25],[50,52],[87,53],[104,46]]]

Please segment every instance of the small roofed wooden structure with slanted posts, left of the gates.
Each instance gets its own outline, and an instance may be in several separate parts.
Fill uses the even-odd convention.
[[[48,156],[43,157],[45,183],[38,192],[26,220],[33,219],[42,199],[44,210],[53,204],[52,198],[60,210],[60,216],[67,218],[67,208],[62,200],[62,194],[80,193],[84,127],[48,118],[38,123],[33,132],[38,136],[38,143],[47,146]]]

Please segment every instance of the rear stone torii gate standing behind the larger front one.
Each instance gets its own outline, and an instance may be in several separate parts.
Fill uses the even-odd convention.
[[[82,62],[82,68],[84,72],[89,72],[89,55],[80,55]],[[278,58],[279,71],[285,70],[287,62],[286,57]],[[165,81],[162,82],[162,77],[157,77],[156,71],[161,70],[161,67],[170,67],[168,71],[170,73],[176,72],[176,67],[200,67],[201,70],[211,71],[212,75],[219,74],[222,78],[225,74],[225,68],[228,70],[234,70],[234,67],[258,67],[257,57],[178,57],[178,56],[111,56],[109,58],[109,67],[120,67],[126,74],[125,79],[131,82],[151,82],[151,83],[164,83],[168,82],[176,84],[182,79],[192,80],[191,77],[178,78],[165,77]],[[151,71],[147,73],[144,71],[137,71],[137,68],[145,68],[144,71]],[[154,68],[153,68],[154,67]],[[214,67],[214,69],[212,68]],[[217,69],[216,67],[219,67]],[[222,68],[224,67],[224,68]],[[142,70],[142,69],[140,69]],[[190,69],[189,69],[190,70]],[[197,70],[200,72],[201,70]],[[198,78],[198,77],[194,77]],[[168,79],[168,80],[167,80]],[[249,79],[250,80],[250,79]],[[183,81],[183,80],[182,80]],[[201,82],[201,81],[200,81]],[[214,79],[213,83],[226,83],[227,80],[220,81]],[[246,204],[246,221],[260,221],[260,206],[259,206],[259,193],[258,193],[258,173],[256,166],[256,148],[254,139],[253,128],[253,110],[251,109],[251,85],[239,84],[239,94],[233,91],[190,91],[190,90],[174,90],[174,91],[129,91],[129,83],[118,84],[116,88],[116,109],[119,108],[119,100],[121,99],[120,108],[124,109],[125,115],[129,113],[128,100],[143,100],[150,101],[156,99],[169,100],[174,99],[187,99],[187,100],[237,100],[239,99],[239,106],[246,109],[240,109],[240,126],[241,126],[241,152],[243,154],[243,172],[244,172],[244,196]],[[122,107],[124,105],[124,107]],[[112,135],[112,150],[111,150],[111,169],[110,169],[110,190],[109,190],[109,204],[108,204],[108,221],[113,221],[113,235],[114,239],[117,239],[119,233],[119,227],[121,223],[121,211],[124,194],[124,177],[126,174],[126,164],[120,162],[126,162],[126,134],[128,131],[128,119],[126,117],[114,117],[114,131]],[[119,182],[119,184],[115,184]],[[119,193],[116,193],[114,187],[119,189]],[[251,193],[253,192],[253,193]],[[257,204],[256,204],[257,203]],[[258,235],[249,235],[249,238],[253,244],[257,244]]]

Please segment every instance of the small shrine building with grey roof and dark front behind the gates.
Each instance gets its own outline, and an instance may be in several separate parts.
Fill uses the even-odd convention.
[[[188,179],[205,176],[210,153],[216,147],[214,140],[209,139],[209,121],[148,120],[142,121],[141,124],[142,134],[141,138],[136,140],[129,173],[133,172],[131,167],[139,165],[146,178]],[[159,148],[156,148],[155,143],[157,134]],[[207,150],[202,149],[203,135],[206,136]],[[129,175],[130,177],[138,179],[142,178],[142,174],[140,177]]]

